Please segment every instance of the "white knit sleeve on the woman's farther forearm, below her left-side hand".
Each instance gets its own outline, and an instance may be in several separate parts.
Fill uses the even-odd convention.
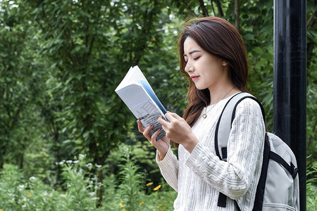
[[[174,155],[171,148],[168,148],[168,152],[163,160],[159,159],[156,152],[156,162],[159,165],[161,174],[166,182],[175,190],[178,191],[178,158]]]

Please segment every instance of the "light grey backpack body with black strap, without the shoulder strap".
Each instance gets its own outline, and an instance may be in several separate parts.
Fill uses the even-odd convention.
[[[276,160],[280,159],[278,157],[272,157],[275,154],[270,156],[263,196],[263,211],[299,210],[299,178],[294,153],[278,136],[271,133],[267,135],[271,154],[279,155],[284,161]]]

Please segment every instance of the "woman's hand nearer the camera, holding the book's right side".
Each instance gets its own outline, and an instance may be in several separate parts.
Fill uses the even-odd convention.
[[[194,147],[199,143],[197,137],[192,133],[192,128],[187,122],[176,113],[166,113],[166,122],[163,117],[159,117],[158,122],[162,124],[166,137],[175,143],[180,143],[189,153],[192,153]]]

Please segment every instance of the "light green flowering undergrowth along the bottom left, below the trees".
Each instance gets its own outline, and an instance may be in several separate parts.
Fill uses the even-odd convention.
[[[37,177],[27,179],[17,166],[6,164],[0,176],[0,210],[173,210],[176,192],[163,179],[161,184],[147,183],[131,147],[120,146],[118,151],[119,177],[108,174],[102,184],[91,172],[104,167],[87,163],[85,155],[56,163],[65,182],[55,187]],[[101,203],[99,188],[104,193]]]

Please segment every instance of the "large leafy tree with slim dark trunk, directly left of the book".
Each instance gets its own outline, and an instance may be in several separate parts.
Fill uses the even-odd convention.
[[[56,82],[48,90],[58,94],[48,104],[53,110],[48,117],[54,117],[49,122],[61,122],[54,134],[66,133],[63,147],[103,165],[130,127],[125,118],[130,111],[114,89],[129,66],[160,43],[161,8],[156,1],[21,1],[20,6],[41,30],[40,53],[50,82]],[[102,172],[97,174],[102,181]]]

